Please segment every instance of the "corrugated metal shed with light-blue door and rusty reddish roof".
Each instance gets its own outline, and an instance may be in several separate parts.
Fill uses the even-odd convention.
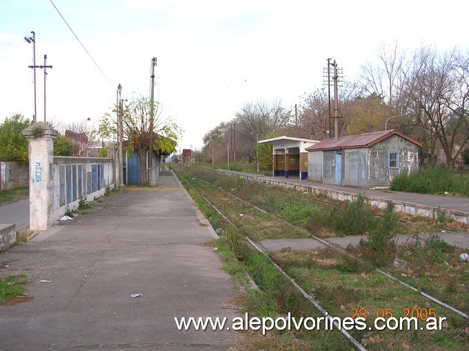
[[[348,187],[389,187],[419,169],[421,144],[395,129],[326,139],[308,147],[308,180]]]

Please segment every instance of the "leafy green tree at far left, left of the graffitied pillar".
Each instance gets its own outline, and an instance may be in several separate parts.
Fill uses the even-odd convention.
[[[28,140],[22,131],[30,125],[30,120],[21,114],[6,118],[0,125],[0,160],[28,162]]]

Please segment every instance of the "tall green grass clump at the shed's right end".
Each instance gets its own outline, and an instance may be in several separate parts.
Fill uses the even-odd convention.
[[[443,166],[427,166],[416,173],[397,175],[392,180],[390,189],[429,194],[443,194],[446,191],[469,196],[469,177],[461,177],[454,169]]]

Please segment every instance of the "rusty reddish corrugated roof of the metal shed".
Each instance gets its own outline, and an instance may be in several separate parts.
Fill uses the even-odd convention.
[[[361,147],[370,147],[375,145],[377,142],[389,138],[393,135],[401,136],[404,139],[413,142],[421,147],[421,144],[404,134],[399,133],[396,129],[390,129],[385,131],[371,131],[369,133],[357,134],[353,136],[344,136],[335,139],[326,139],[318,142],[316,145],[312,145],[306,148],[307,151],[319,151],[319,150],[340,150],[340,149],[355,149]]]

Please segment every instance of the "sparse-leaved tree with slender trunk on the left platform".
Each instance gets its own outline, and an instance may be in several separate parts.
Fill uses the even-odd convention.
[[[140,97],[132,100],[121,111],[123,116],[123,145],[126,152],[137,151],[140,159],[141,184],[148,184],[146,156],[151,147],[157,153],[172,153],[182,129],[173,118],[164,114],[160,103],[154,103],[154,116],[150,116],[151,101]],[[153,119],[153,120],[152,120]],[[150,127],[152,125],[152,128]],[[117,117],[106,114],[99,125],[100,136],[117,135]]]

